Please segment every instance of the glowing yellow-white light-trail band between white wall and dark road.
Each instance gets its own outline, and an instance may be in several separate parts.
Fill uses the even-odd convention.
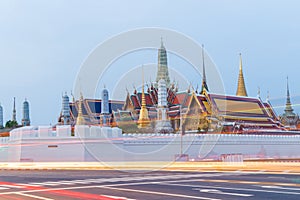
[[[3,162],[0,170],[141,170],[300,174],[299,162]]]

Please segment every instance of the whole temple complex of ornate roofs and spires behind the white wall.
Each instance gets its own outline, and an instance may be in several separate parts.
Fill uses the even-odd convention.
[[[241,54],[235,95],[215,94],[209,90],[204,48],[199,92],[190,87],[179,91],[178,85],[170,82],[167,50],[162,41],[156,75],[156,82],[150,84],[145,84],[143,78],[141,91],[127,91],[125,101],[109,100],[105,88],[101,99],[84,99],[81,95],[79,100],[73,98],[69,102],[64,95],[58,124],[117,126],[123,133],[250,134],[290,129],[299,121],[298,115],[293,113],[289,88],[285,113],[280,117],[268,100],[260,98],[260,91],[256,97],[248,97]]]

